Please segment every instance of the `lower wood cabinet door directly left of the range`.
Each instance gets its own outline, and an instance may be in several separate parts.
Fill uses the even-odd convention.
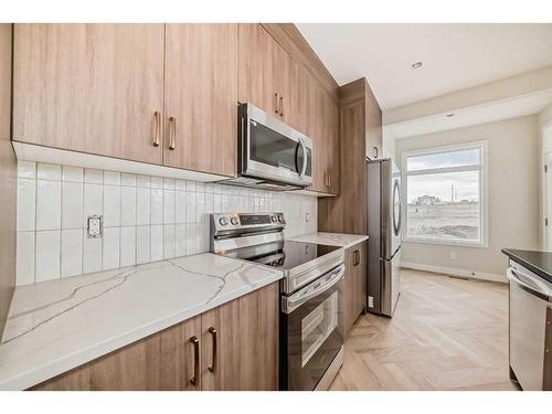
[[[274,283],[203,314],[203,390],[277,390],[278,297]]]

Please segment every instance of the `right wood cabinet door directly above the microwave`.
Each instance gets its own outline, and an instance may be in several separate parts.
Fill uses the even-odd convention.
[[[274,44],[275,89],[278,116],[290,127],[307,131],[307,73],[277,43]]]

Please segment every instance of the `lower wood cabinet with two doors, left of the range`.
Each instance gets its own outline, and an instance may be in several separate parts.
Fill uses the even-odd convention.
[[[277,390],[278,286],[255,290],[32,390]]]

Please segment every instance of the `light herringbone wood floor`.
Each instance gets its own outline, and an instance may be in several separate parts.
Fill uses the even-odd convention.
[[[403,269],[393,319],[357,320],[330,390],[517,390],[507,285]]]

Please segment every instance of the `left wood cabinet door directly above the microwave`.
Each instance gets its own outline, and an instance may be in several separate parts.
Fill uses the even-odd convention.
[[[277,116],[274,85],[276,42],[261,24],[238,24],[238,100]]]

